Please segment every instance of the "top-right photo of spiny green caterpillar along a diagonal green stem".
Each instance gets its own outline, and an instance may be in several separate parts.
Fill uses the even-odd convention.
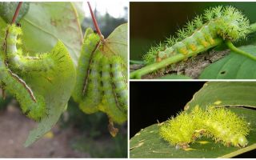
[[[254,79],[255,7],[130,2],[130,79]]]

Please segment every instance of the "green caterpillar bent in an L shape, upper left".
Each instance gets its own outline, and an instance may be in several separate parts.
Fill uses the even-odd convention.
[[[22,34],[22,29],[16,25],[7,26],[6,31],[6,61],[10,64],[11,70],[17,72],[47,71],[62,62],[63,54],[54,54],[54,49],[50,53],[39,54],[37,56],[24,56],[17,45],[21,44],[18,38]]]

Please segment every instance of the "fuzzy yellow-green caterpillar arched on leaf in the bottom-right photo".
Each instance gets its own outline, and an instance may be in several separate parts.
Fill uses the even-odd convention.
[[[199,107],[187,113],[183,111],[170,118],[159,129],[160,136],[173,146],[186,148],[197,138],[206,136],[224,146],[247,146],[246,135],[250,132],[248,123],[232,111],[221,107]]]

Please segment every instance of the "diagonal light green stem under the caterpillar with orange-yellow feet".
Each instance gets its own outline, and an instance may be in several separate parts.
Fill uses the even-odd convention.
[[[223,42],[221,38],[215,38],[214,41],[215,41],[214,45],[211,45],[208,47],[200,46],[200,47],[198,47],[198,50],[195,52],[190,50],[190,52],[186,55],[185,54],[176,54],[170,58],[166,58],[166,59],[162,60],[161,62],[156,62],[149,66],[145,66],[139,70],[135,70],[134,72],[130,73],[130,78],[142,78],[142,75],[149,74],[149,73],[153,72],[154,70],[158,70],[160,68],[169,66],[170,64],[173,64],[175,62],[180,62],[183,59],[189,58],[193,55],[200,54],[203,51],[208,50],[214,46],[218,46],[219,44],[221,44]]]

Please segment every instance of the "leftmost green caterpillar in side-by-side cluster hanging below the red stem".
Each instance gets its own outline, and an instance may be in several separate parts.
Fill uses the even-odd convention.
[[[94,52],[98,48],[99,41],[100,37],[98,34],[94,34],[94,30],[88,28],[86,30],[82,51],[78,60],[77,81],[76,85],[74,86],[74,92],[72,94],[75,102],[81,102],[82,98],[86,96],[84,92],[87,86],[87,78],[90,72],[90,62]]]

